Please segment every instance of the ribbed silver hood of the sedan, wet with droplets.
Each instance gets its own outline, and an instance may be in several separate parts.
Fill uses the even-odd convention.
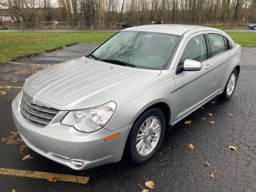
[[[27,79],[23,89],[45,106],[84,109],[117,101],[160,73],[82,57],[39,71]]]

